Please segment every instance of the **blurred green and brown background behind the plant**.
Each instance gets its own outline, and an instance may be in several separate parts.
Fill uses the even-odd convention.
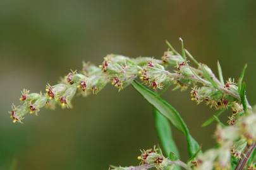
[[[97,96],[77,97],[72,110],[42,110],[13,124],[11,103],[23,88],[44,91],[82,60],[101,64],[106,54],[159,58],[165,40],[185,47],[226,79],[245,63],[248,99],[256,93],[256,1],[0,1],[0,169],[108,169],[138,164],[139,149],[158,144],[151,106],[131,87],[107,86]],[[189,91],[164,98],[180,111],[203,149],[214,145],[212,114],[190,101]],[[222,120],[226,121],[226,115]],[[181,156],[186,142],[174,130]]]

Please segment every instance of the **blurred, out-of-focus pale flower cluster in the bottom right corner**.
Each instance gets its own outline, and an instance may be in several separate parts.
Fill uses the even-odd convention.
[[[217,126],[217,149],[210,149],[197,157],[195,169],[230,169],[231,156],[241,159],[245,148],[255,147],[256,113],[251,113],[238,120],[236,125]]]

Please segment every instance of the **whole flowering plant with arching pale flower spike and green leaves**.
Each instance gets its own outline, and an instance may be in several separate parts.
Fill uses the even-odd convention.
[[[181,40],[181,39],[180,39]],[[159,147],[141,150],[139,166],[112,167],[116,170],[128,169],[256,169],[256,111],[253,111],[245,95],[243,69],[237,82],[229,78],[224,82],[221,65],[217,62],[219,76],[216,77],[209,67],[197,62],[183,47],[181,40],[181,54],[168,42],[169,49],[164,52],[161,60],[150,57],[131,59],[123,55],[110,54],[104,57],[102,64],[97,67],[90,63],[83,63],[81,72],[71,71],[59,84],[46,85],[46,93],[30,93],[24,89],[21,94],[21,105],[12,106],[10,112],[13,122],[20,122],[28,113],[37,115],[43,107],[54,109],[56,105],[71,108],[71,99],[76,92],[83,96],[97,94],[108,82],[116,88],[126,88],[132,85],[143,98],[154,106],[155,125],[162,143],[163,151]],[[188,58],[195,64],[192,67]],[[172,69],[172,71],[169,71]],[[140,78],[142,84],[152,89],[164,90],[174,85],[174,89],[181,91],[190,86],[191,98],[197,104],[204,102],[214,108],[216,114],[209,118],[203,127],[217,122],[215,133],[217,147],[202,152],[200,146],[193,139],[186,123],[168,102],[161,99],[156,91],[150,91],[135,79]],[[232,113],[228,122],[222,123],[218,116],[226,110]],[[174,143],[169,127],[174,127],[184,133],[190,159],[182,162]]]

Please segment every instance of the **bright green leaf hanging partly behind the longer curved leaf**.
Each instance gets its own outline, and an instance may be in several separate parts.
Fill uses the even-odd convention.
[[[168,119],[155,108],[154,116],[155,128],[161,141],[162,148],[164,149],[164,153],[166,154],[166,156],[168,156],[170,152],[173,152],[176,156],[179,157],[179,151],[173,140],[171,127],[169,125]]]

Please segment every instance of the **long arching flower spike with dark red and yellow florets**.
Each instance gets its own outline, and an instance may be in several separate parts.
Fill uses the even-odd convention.
[[[169,67],[173,67],[174,72],[168,71]],[[28,112],[37,115],[44,106],[55,108],[55,105],[59,104],[63,108],[71,108],[71,100],[77,91],[83,96],[97,94],[108,82],[121,90],[137,77],[153,89],[164,89],[174,84],[176,86],[174,89],[183,91],[193,85],[191,91],[193,101],[197,103],[205,101],[207,105],[216,109],[233,108],[229,124],[235,124],[235,114],[241,111],[236,106],[240,96],[237,85],[232,79],[226,84],[221,84],[206,65],[198,64],[198,68],[191,67],[186,57],[182,57],[176,51],[168,50],[164,52],[162,60],[150,57],[131,59],[123,55],[110,54],[104,57],[99,67],[83,62],[81,72],[71,71],[59,84],[54,86],[47,84],[44,94],[23,90],[21,105],[13,106],[11,118],[13,122],[21,122]],[[211,77],[217,85],[213,86],[207,77]],[[198,83],[202,86],[197,86]]]

